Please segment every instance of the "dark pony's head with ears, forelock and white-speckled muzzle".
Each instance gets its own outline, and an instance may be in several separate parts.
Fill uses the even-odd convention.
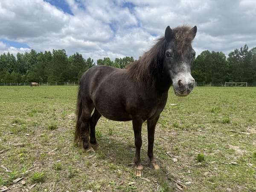
[[[192,61],[195,50],[191,42],[195,38],[197,27],[180,26],[171,29],[166,27],[166,49],[163,70],[172,79],[173,89],[177,96],[187,96],[195,86],[195,79],[191,76]]]

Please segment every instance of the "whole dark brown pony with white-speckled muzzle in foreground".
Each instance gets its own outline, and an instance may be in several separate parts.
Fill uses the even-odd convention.
[[[80,80],[75,141],[93,151],[92,147],[97,146],[95,126],[101,116],[114,121],[132,120],[135,175],[142,176],[141,127],[147,120],[149,165],[159,169],[153,155],[155,126],[166,105],[169,87],[173,85],[177,96],[186,96],[195,85],[190,69],[196,31],[196,26],[168,26],[165,36],[127,69],[97,65],[87,70]]]

